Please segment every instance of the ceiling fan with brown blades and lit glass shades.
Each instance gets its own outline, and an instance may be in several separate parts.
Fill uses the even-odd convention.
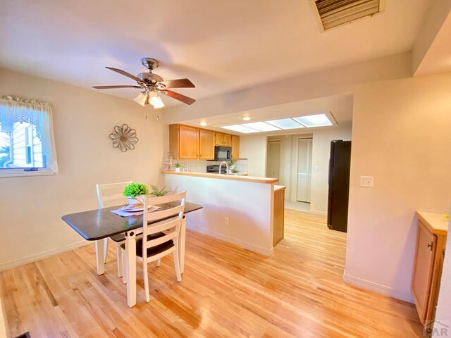
[[[149,73],[140,73],[137,76],[131,75],[124,70],[106,67],[113,72],[130,77],[130,79],[137,82],[137,86],[125,84],[125,85],[115,85],[115,86],[94,86],[95,89],[117,89],[117,88],[134,88],[134,89],[144,89],[138,96],[135,97],[135,101],[141,106],[146,106],[147,104],[152,105],[154,108],[162,108],[164,106],[163,101],[158,94],[163,94],[172,97],[178,101],[182,101],[184,104],[194,104],[196,100],[173,92],[168,88],[195,88],[194,84],[188,79],[177,79],[177,80],[167,80],[163,81],[163,77],[152,73],[152,70],[159,66],[158,61],[154,58],[142,58],[142,65],[149,70]]]

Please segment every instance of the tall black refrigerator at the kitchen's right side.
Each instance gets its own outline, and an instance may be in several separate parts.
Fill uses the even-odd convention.
[[[330,142],[329,198],[327,226],[347,231],[347,206],[350,194],[351,141]]]

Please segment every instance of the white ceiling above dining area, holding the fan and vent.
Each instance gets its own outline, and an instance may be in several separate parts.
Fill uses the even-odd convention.
[[[149,56],[201,99],[409,51],[430,4],[387,0],[385,13],[321,34],[307,0],[1,0],[0,67],[90,88],[132,84],[104,66],[137,74]]]

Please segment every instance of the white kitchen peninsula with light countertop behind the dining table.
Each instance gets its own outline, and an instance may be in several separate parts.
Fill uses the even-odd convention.
[[[271,256],[283,238],[285,187],[276,178],[163,171],[166,186],[202,204],[187,228]],[[281,209],[281,210],[280,210]]]

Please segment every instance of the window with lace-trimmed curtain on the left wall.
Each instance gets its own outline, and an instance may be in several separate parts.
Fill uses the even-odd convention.
[[[0,177],[58,171],[51,120],[45,102],[0,97]]]

